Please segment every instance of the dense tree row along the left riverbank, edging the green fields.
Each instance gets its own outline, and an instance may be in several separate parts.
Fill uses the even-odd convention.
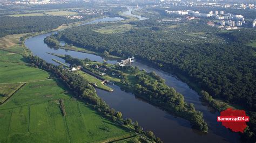
[[[107,105],[101,98],[99,98],[96,94],[96,90],[92,87],[89,81],[85,80],[83,77],[70,71],[64,70],[61,66],[57,67],[50,63],[46,63],[44,60],[38,58],[37,56],[28,56],[28,61],[33,67],[44,69],[51,72],[54,76],[60,77],[60,79],[69,87],[69,89],[74,93],[77,98],[90,102],[95,108],[97,108],[100,113],[103,113],[103,115],[105,115],[106,117],[111,116],[113,121],[116,121],[118,119],[118,121],[121,121],[124,124],[131,124],[131,119],[124,120],[121,112],[110,108],[109,105]],[[62,109],[63,116],[65,116],[65,107],[63,106],[64,101],[60,99],[59,102],[61,104],[60,108]],[[142,128],[138,125],[138,122],[136,123],[137,124],[133,125],[136,132],[147,135],[153,141],[159,143],[162,142],[159,138],[156,138],[156,136],[153,135],[152,131],[144,132],[143,130],[136,129]]]

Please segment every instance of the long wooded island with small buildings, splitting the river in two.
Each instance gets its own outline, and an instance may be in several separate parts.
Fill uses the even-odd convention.
[[[102,74],[101,72],[104,72],[104,75],[98,78],[108,80],[108,77],[112,75],[112,78],[116,78],[114,81],[118,81],[117,79],[120,80],[116,84],[125,89],[125,91],[132,92],[146,99],[148,102],[190,121],[195,128],[202,132],[207,132],[208,130],[207,124],[203,120],[203,115],[196,111],[193,105],[185,103],[184,96],[176,92],[173,88],[168,87],[163,78],[156,75],[156,73],[146,73],[144,70],[139,70],[138,67],[120,67],[117,65],[104,65],[97,62],[83,61],[72,58],[71,56],[64,56],[63,59],[69,64],[79,63],[83,69],[89,70],[97,77]],[[86,79],[90,82],[95,81],[90,80],[88,77]]]

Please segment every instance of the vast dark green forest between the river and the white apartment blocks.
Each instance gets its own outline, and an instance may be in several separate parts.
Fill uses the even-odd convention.
[[[256,30],[212,32],[208,37],[216,37],[217,40],[206,41],[187,36],[197,30],[206,34],[214,31],[211,30],[213,27],[207,28],[200,23],[174,27],[169,31],[165,30],[167,26],[153,20],[130,24],[136,28],[123,33],[102,34],[96,30],[107,24],[96,24],[71,28],[55,37],[92,51],[107,51],[121,57],[135,56],[165,71],[182,75],[213,98],[242,105],[251,111],[250,115],[254,114],[256,51],[246,43],[256,39]],[[250,124],[255,131],[255,122],[252,120]]]

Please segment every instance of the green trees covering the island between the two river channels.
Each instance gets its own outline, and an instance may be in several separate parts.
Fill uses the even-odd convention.
[[[95,69],[84,66],[84,60],[72,58],[70,55],[63,56],[65,62],[71,65],[80,65],[83,68],[95,72]],[[186,104],[184,96],[178,93],[174,88],[170,88],[165,84],[165,80],[158,76],[156,73],[150,73],[151,76],[145,73],[139,74],[138,67],[124,66],[115,68],[103,67],[107,70],[107,74],[111,75],[116,73],[116,77],[120,78],[122,83],[121,88],[133,92],[133,94],[150,101],[151,103],[158,104],[167,111],[170,111],[180,117],[183,117],[191,122],[194,128],[200,131],[207,132],[208,127],[203,119],[203,113],[196,111],[193,104]],[[125,73],[136,74],[136,83],[131,83]]]

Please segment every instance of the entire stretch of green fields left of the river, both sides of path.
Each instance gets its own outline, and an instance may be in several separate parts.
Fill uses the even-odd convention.
[[[26,63],[26,49],[18,41],[22,36],[0,39],[0,99],[26,83],[0,105],[0,142],[102,142],[134,135],[72,98],[61,81],[48,80],[49,73]],[[64,99],[65,117],[59,99]]]

